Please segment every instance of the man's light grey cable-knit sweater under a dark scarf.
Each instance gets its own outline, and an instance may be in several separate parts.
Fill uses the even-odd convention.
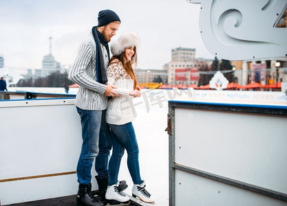
[[[109,63],[107,49],[101,45],[105,67]],[[107,108],[107,97],[105,84],[96,81],[96,43],[92,33],[78,49],[78,56],[69,73],[68,78],[80,85],[76,95],[75,105],[83,110],[102,111]]]

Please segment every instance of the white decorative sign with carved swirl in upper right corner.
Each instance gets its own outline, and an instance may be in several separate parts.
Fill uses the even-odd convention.
[[[287,28],[276,27],[287,0],[188,0],[201,3],[206,48],[227,60],[287,56]]]

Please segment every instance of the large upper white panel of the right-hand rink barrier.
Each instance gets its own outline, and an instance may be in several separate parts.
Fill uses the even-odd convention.
[[[176,163],[287,193],[287,118],[176,108]]]

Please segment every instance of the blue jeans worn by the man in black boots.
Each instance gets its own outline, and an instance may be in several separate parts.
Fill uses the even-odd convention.
[[[76,109],[81,117],[83,138],[76,172],[78,183],[88,185],[92,179],[91,170],[95,158],[98,176],[108,175],[107,161],[111,150],[111,139],[105,122],[105,111]]]

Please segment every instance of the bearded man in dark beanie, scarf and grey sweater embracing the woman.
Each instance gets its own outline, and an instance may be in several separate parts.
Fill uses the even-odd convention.
[[[109,128],[105,122],[107,97],[117,96],[116,87],[107,84],[106,69],[109,62],[109,41],[120,27],[120,18],[111,10],[98,13],[98,26],[92,28],[69,73],[69,79],[80,85],[75,106],[81,117],[83,144],[78,159],[77,201],[85,205],[103,205],[91,193],[91,169],[96,158],[96,180],[101,201],[105,201],[108,172],[107,161],[111,150]],[[124,190],[125,181],[118,185]]]

